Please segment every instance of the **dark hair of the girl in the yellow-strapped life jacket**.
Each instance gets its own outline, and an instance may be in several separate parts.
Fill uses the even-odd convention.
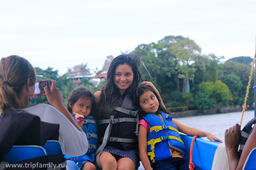
[[[162,111],[164,113],[169,113],[165,108],[164,106],[161,104],[161,100],[160,100],[160,97],[156,94],[156,92],[154,91],[154,89],[148,85],[142,85],[142,86],[139,86],[137,89],[136,89],[136,92],[134,93],[135,94],[135,106],[137,107],[137,109],[139,109],[139,119],[141,119],[143,116],[146,116],[147,113],[145,113],[141,107],[140,107],[140,96],[142,94],[144,94],[145,92],[148,92],[148,91],[151,91],[155,94],[156,96],[156,99],[158,100],[159,102],[159,107],[158,107],[158,110],[157,111]]]

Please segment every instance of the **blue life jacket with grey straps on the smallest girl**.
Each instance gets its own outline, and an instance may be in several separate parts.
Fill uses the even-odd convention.
[[[71,114],[73,119],[76,120],[75,116]],[[95,119],[92,117],[92,115],[87,116],[84,118],[83,122],[83,131],[86,134],[87,140],[88,140],[88,150],[87,152],[76,158],[84,159],[84,160],[89,160],[91,162],[94,161],[94,153],[97,150],[97,145],[98,145],[98,129],[97,129],[97,123]],[[75,158],[73,156],[68,156],[65,155],[66,159],[70,158]]]

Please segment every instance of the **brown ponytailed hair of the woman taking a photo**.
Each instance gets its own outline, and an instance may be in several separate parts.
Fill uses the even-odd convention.
[[[30,78],[29,85],[36,82],[36,73],[32,65],[23,57],[11,55],[0,61],[0,112],[1,115],[9,108],[19,108],[18,99],[21,90]]]

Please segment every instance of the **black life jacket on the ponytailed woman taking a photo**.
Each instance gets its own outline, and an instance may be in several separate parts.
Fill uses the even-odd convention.
[[[43,147],[47,140],[58,141],[59,128],[59,124],[41,122],[38,116],[29,114],[24,110],[8,108],[4,115],[0,116],[0,162],[3,161],[5,155],[10,151],[13,145],[37,145]],[[61,154],[11,162],[11,164],[59,164],[65,161],[64,155]],[[35,167],[34,169],[39,170],[45,168]],[[61,168],[61,170],[64,169],[66,168]]]

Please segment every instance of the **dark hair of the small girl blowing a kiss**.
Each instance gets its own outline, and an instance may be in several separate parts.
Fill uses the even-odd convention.
[[[93,93],[86,89],[85,87],[77,87],[75,90],[73,90],[73,92],[68,96],[68,100],[67,100],[67,109],[70,113],[72,113],[72,109],[69,107],[69,103],[71,106],[74,106],[74,104],[78,101],[78,100],[91,100],[92,101],[92,108],[91,108],[91,112],[90,114],[94,117],[96,114],[96,101],[95,101],[95,97],[93,95]]]

